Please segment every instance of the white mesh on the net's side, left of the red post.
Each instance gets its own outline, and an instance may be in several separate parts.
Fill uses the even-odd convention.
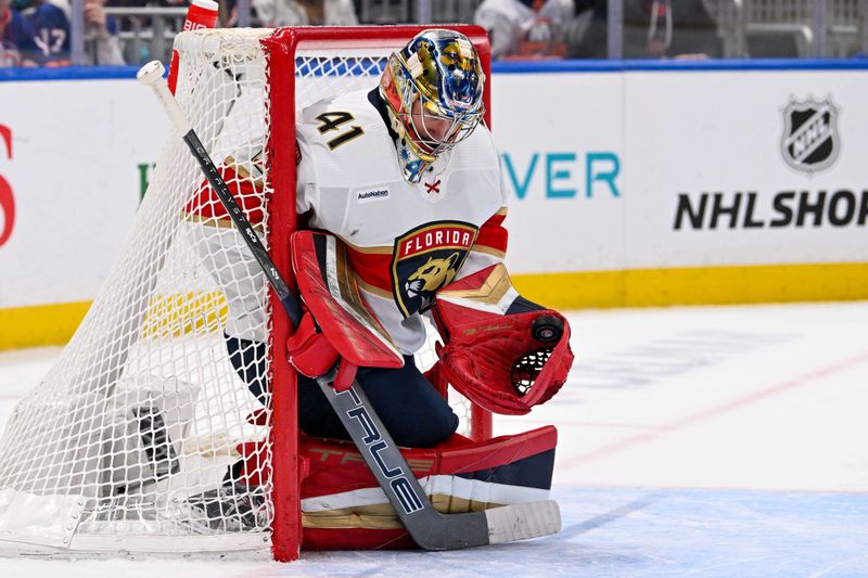
[[[231,152],[239,166],[230,187],[250,196],[245,206],[264,208],[265,175],[244,170],[268,120],[257,35],[226,36],[209,54],[182,51],[180,70],[178,100],[204,144],[215,158]],[[270,525],[267,483],[218,494],[238,445],[267,439],[268,416],[264,425],[247,420],[263,406],[233,365],[247,371],[248,383],[266,383],[269,316],[261,275],[208,195],[197,193],[202,181],[171,134],[118,265],[56,365],[10,420],[0,441],[8,459],[0,512],[28,500],[59,509],[60,531],[42,528],[49,538],[29,537],[38,543],[255,535]],[[268,243],[261,210],[248,217]],[[267,445],[263,451],[265,470]],[[3,521],[0,529],[21,531]]]

